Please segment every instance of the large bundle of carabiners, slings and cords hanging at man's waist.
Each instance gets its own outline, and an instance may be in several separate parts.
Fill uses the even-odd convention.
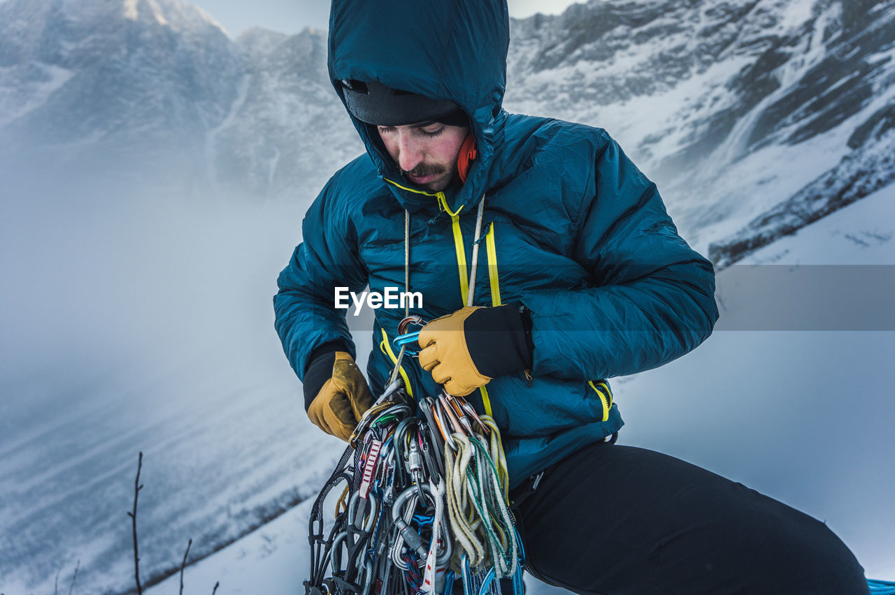
[[[402,335],[410,323],[422,319],[406,318]],[[396,369],[409,343],[400,344]],[[521,594],[524,554],[497,424],[444,390],[414,401],[392,376],[311,508],[306,595],[461,587],[465,595],[498,595],[500,578],[512,578]],[[326,522],[328,495],[341,483],[335,521]]]

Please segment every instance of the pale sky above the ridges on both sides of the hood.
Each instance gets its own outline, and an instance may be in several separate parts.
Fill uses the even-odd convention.
[[[208,11],[231,36],[258,25],[283,33],[297,33],[305,27],[327,29],[328,0],[188,0]],[[574,0],[509,0],[509,14],[522,19],[534,13],[558,14]]]

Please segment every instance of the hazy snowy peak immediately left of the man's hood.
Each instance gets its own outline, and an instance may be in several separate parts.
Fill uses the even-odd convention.
[[[249,29],[236,46],[245,68],[239,99],[209,138],[218,189],[267,197],[316,194],[363,150],[329,82],[326,35]]]

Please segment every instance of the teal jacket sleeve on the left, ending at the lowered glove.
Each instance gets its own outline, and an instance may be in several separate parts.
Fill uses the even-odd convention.
[[[344,346],[356,358],[347,310],[336,308],[335,289],[360,292],[368,274],[359,258],[350,207],[339,200],[335,186],[330,180],[311,204],[302,222],[303,241],[277,279],[274,324],[300,380],[311,354],[326,344]]]

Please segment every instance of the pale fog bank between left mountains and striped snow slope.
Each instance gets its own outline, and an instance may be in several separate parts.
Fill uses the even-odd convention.
[[[270,298],[303,205],[84,180],[13,180],[7,191],[0,377],[13,402],[69,406],[91,384],[152,381],[184,357],[277,356]]]

